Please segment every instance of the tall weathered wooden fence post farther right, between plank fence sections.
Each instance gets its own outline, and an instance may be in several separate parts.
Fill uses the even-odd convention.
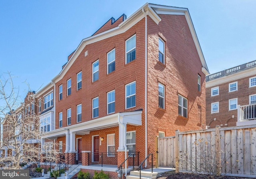
[[[215,127],[215,153],[216,153],[216,171],[217,176],[221,173],[221,158],[220,158],[220,126]]]

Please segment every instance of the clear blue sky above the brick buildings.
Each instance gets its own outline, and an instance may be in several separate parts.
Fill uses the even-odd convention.
[[[0,0],[0,74],[15,76],[23,100],[27,84],[48,84],[82,39],[146,2],[188,8],[210,73],[256,60],[255,0]]]

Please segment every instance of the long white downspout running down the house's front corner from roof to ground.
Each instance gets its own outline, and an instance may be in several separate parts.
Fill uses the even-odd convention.
[[[148,131],[147,131],[147,84],[148,84],[148,39],[147,39],[147,14],[142,8],[142,12],[145,15],[145,158],[147,157],[147,148],[148,148]],[[145,167],[147,167],[147,161],[145,162]]]

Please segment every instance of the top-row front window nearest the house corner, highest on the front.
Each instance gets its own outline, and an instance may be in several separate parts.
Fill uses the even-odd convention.
[[[126,40],[126,64],[136,58],[136,35]]]

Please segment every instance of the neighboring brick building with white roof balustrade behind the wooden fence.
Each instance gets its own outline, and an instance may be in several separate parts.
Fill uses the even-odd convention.
[[[256,124],[256,61],[206,76],[206,125]]]

